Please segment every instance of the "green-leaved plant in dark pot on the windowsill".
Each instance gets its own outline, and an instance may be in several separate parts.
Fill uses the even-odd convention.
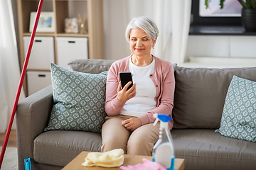
[[[211,0],[205,0],[206,8]],[[225,0],[220,0],[220,8],[223,8]],[[256,31],[256,0],[238,0],[242,5],[242,25],[247,32]]]

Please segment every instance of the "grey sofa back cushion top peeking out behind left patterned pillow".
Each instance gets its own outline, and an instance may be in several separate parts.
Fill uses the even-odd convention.
[[[109,70],[114,61],[115,60],[75,59],[68,62],[68,67],[77,72],[98,74]]]

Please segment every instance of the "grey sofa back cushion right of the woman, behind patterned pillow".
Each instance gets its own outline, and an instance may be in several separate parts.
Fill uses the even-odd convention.
[[[256,81],[256,68],[178,67],[174,94],[174,128],[220,128],[225,96],[233,75]]]

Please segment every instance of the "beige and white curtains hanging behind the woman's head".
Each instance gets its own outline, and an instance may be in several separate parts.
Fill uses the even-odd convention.
[[[104,13],[106,59],[117,60],[130,55],[128,43],[121,39],[124,38],[125,29],[132,18],[149,16],[159,28],[159,38],[152,54],[172,63],[183,64],[191,0],[105,0]]]

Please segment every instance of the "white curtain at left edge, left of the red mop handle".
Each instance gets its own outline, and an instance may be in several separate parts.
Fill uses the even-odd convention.
[[[0,1],[0,132],[5,132],[14,105],[20,70],[11,0]],[[21,91],[20,99],[25,98]],[[14,121],[13,128],[16,128]]]

